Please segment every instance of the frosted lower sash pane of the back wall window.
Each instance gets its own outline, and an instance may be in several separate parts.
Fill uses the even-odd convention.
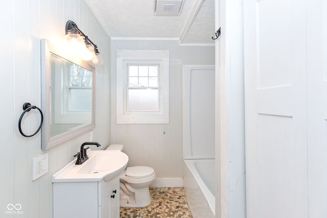
[[[129,89],[128,111],[158,111],[158,89]]]

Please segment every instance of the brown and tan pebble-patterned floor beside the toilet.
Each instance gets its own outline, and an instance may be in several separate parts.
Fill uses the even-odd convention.
[[[183,188],[150,188],[150,194],[149,206],[121,207],[121,218],[193,217]]]

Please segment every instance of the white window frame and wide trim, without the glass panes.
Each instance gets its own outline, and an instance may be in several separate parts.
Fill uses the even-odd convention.
[[[169,51],[117,50],[116,53],[116,124],[169,124]],[[158,111],[127,110],[128,65],[158,65]]]

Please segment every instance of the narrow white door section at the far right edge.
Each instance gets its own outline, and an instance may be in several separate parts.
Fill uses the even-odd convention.
[[[327,1],[307,1],[309,217],[327,217]]]

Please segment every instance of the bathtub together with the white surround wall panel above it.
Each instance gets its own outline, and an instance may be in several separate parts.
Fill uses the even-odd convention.
[[[193,217],[215,217],[215,65],[183,65],[183,183]]]

